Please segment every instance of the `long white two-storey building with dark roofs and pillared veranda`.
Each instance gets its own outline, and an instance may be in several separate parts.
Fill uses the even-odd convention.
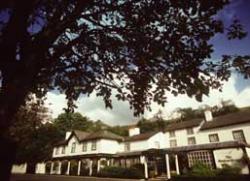
[[[144,165],[145,178],[181,174],[195,162],[212,168],[238,165],[249,173],[250,111],[206,119],[170,123],[164,132],[140,134],[137,127],[123,138],[108,131],[71,131],[54,147],[46,172],[67,175],[95,175],[107,165]],[[41,170],[41,168],[40,168]]]

